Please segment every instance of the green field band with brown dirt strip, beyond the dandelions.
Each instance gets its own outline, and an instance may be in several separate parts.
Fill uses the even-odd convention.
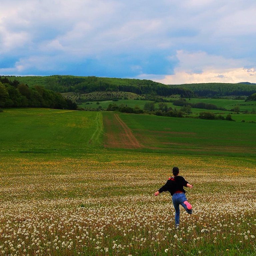
[[[3,152],[82,153],[103,148],[105,143],[112,149],[171,154],[253,156],[256,153],[256,124],[248,122],[118,112],[8,109],[0,113],[0,125]],[[135,140],[139,146],[132,146],[137,143]]]

